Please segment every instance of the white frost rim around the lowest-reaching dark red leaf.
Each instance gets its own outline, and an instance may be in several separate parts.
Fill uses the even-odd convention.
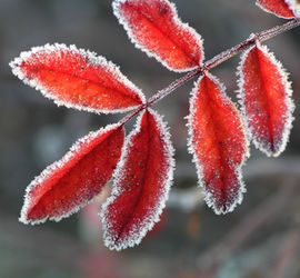
[[[142,222],[139,224],[139,227],[134,227],[130,236],[126,238],[124,240],[116,244],[116,235],[111,230],[111,226],[108,221],[108,214],[109,214],[109,206],[113,203],[113,201],[122,193],[121,188],[121,181],[122,178],[126,175],[124,166],[127,163],[127,160],[130,156],[130,146],[132,146],[132,139],[140,132],[141,128],[141,120],[144,115],[139,116],[137,119],[136,128],[131,131],[131,133],[128,136],[126,143],[123,146],[121,159],[117,166],[117,170],[113,175],[114,182],[112,186],[112,192],[111,196],[107,199],[106,203],[102,206],[102,210],[100,212],[100,217],[102,219],[103,225],[103,238],[104,238],[104,245],[110,248],[111,250],[121,250],[126,249],[128,247],[133,247],[136,245],[139,245],[142,240],[142,238],[147,235],[149,230],[151,230],[156,222],[160,220],[160,215],[166,207],[166,201],[169,197],[169,190],[172,183],[173,179],[173,169],[174,169],[174,160],[173,160],[173,147],[171,145],[170,140],[170,133],[169,129],[167,128],[167,125],[162,121],[162,118],[152,109],[148,110],[150,115],[152,115],[156,119],[157,127],[160,130],[161,136],[161,142],[164,148],[164,155],[167,157],[166,165],[168,166],[167,175],[166,177],[161,177],[162,188],[163,192],[160,196],[160,199],[156,202],[156,207],[151,208],[150,211],[148,211],[147,217],[143,218]],[[151,151],[151,150],[150,150]]]

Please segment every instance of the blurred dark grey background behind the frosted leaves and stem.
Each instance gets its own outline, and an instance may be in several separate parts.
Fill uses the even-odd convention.
[[[206,57],[283,23],[254,0],[174,0],[183,21],[204,39]],[[192,81],[159,102],[177,149],[174,185],[162,220],[142,244],[121,252],[102,242],[98,211],[108,195],[59,224],[18,222],[31,179],[90,130],[120,116],[58,108],[12,76],[20,51],[47,42],[90,49],[121,67],[147,97],[179,76],[134,49],[109,0],[0,0],[0,277],[1,278],[260,278],[300,277],[300,112],[277,159],[251,149],[241,206],[216,216],[202,201],[186,148]],[[267,42],[291,72],[300,101],[300,29]],[[236,100],[236,57],[212,71]],[[127,130],[131,129],[129,123]]]

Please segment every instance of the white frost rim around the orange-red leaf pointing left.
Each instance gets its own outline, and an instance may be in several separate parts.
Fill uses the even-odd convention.
[[[97,56],[94,52],[91,52],[89,50],[78,49],[76,46],[67,47],[63,43],[54,43],[54,44],[44,44],[42,47],[33,47],[30,51],[24,51],[20,53],[20,57],[16,58],[13,61],[9,63],[9,66],[12,69],[12,72],[14,76],[17,76],[19,79],[21,79],[26,85],[29,85],[30,87],[41,91],[41,93],[51,100],[54,101],[58,106],[64,106],[67,108],[76,108],[78,110],[89,111],[89,112],[96,112],[96,113],[117,113],[117,112],[126,112],[129,110],[134,109],[136,107],[129,107],[126,109],[114,109],[114,110],[107,110],[107,109],[96,109],[88,106],[81,106],[76,105],[67,101],[62,101],[60,98],[54,96],[51,91],[48,90],[47,87],[44,87],[38,79],[30,79],[28,78],[20,66],[22,62],[27,61],[30,57],[37,56],[38,53],[52,53],[52,52],[71,52],[74,54],[80,54],[83,58],[87,59],[87,63],[90,63],[96,67],[100,67],[102,69],[106,69],[107,72],[113,75],[116,77],[116,80],[123,83],[127,88],[134,91],[137,96],[141,99],[141,101],[144,103],[146,98],[142,91],[136,87],[119,69],[118,66],[112,63],[111,61],[108,61],[102,56]]]

